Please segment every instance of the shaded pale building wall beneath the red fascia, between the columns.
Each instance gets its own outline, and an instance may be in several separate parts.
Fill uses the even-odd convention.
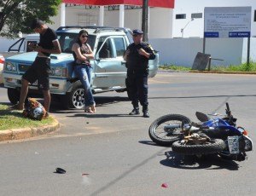
[[[125,9],[125,27],[131,29],[142,28],[142,9]],[[149,9],[149,38],[172,37],[172,9],[150,8]],[[84,6],[66,8],[66,26],[98,26],[99,9],[84,9]],[[84,20],[82,20],[84,15]],[[61,26],[61,14],[59,13],[49,24],[53,29]],[[84,22],[84,23],[83,23]],[[104,11],[104,26],[119,26],[119,10]]]

